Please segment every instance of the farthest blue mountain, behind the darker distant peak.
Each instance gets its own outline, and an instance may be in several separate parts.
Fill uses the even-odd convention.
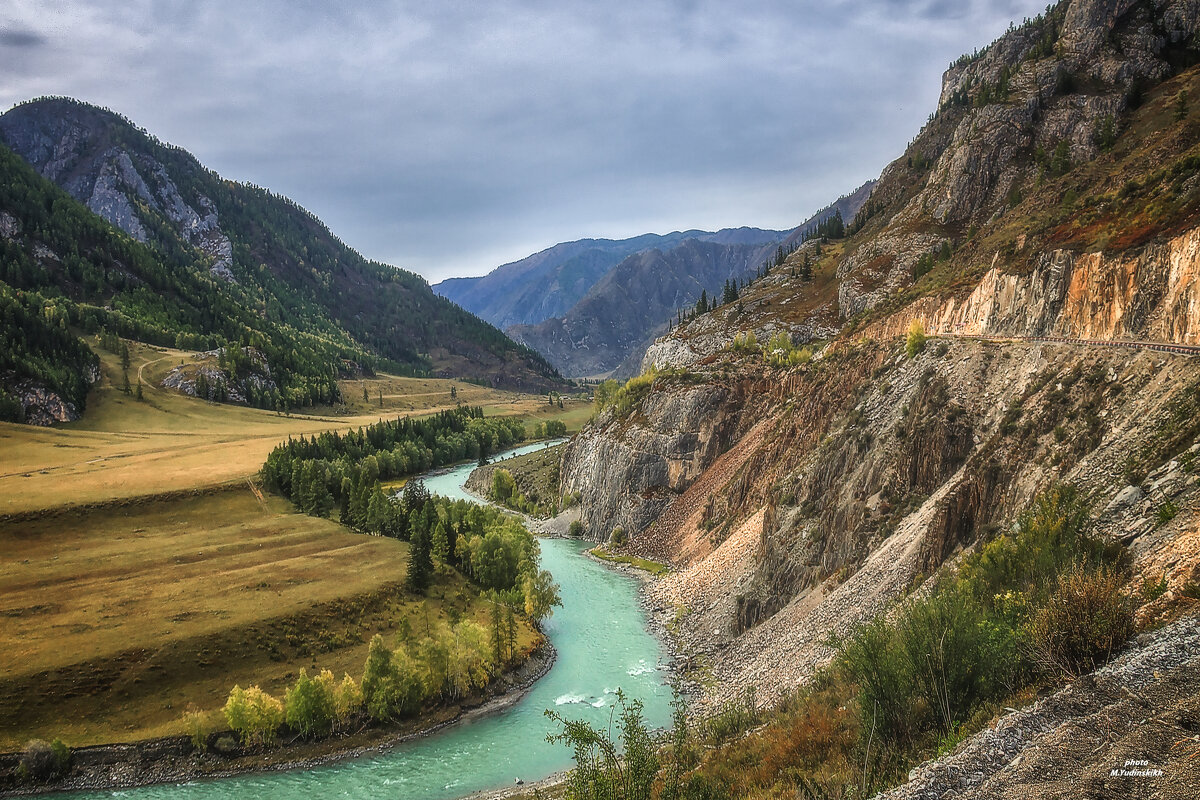
[[[564,314],[608,270],[635,253],[670,249],[690,239],[722,245],[767,245],[785,235],[780,230],[727,228],[715,233],[683,230],[619,240],[581,239],[498,266],[481,277],[449,278],[434,284],[433,290],[498,327],[536,325]]]

